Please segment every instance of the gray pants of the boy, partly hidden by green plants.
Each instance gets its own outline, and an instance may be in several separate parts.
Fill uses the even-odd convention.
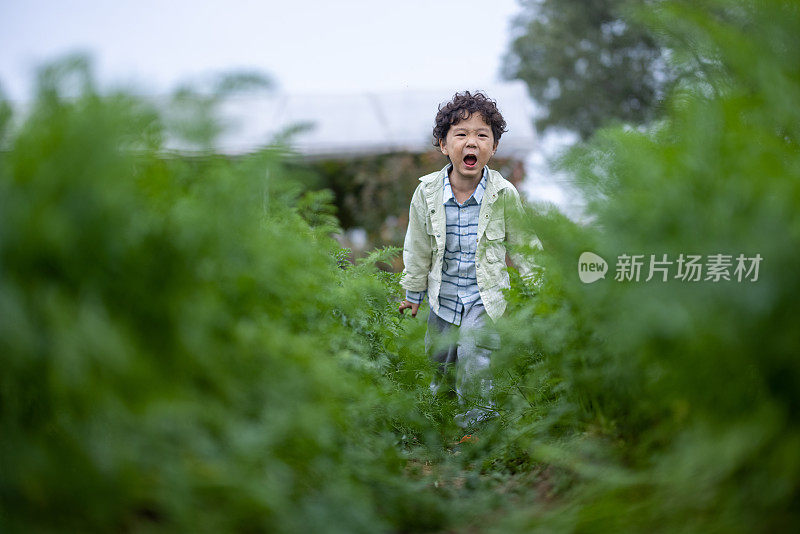
[[[489,364],[492,351],[498,348],[500,336],[480,301],[464,305],[461,326],[448,323],[433,311],[428,315],[425,352],[439,364],[431,391],[436,394],[444,387],[458,395],[465,409],[456,416],[461,426],[497,415],[491,400]]]

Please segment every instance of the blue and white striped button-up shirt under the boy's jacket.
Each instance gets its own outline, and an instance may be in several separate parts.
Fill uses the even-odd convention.
[[[487,169],[478,187],[466,202],[459,204],[450,186],[450,169],[444,175],[442,203],[447,236],[442,263],[442,287],[439,291],[439,317],[456,326],[461,324],[464,305],[480,302],[475,274],[475,251],[478,247],[478,215],[486,190]],[[424,291],[406,291],[406,300],[420,303]]]

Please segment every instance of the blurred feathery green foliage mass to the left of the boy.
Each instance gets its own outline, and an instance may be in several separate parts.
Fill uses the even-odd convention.
[[[172,154],[164,114],[59,63],[0,153],[0,528],[442,525],[400,476],[396,251],[348,267],[279,152]]]

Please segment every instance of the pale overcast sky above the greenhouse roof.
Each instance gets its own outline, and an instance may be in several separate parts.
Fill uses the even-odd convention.
[[[164,93],[254,69],[288,93],[477,89],[497,83],[515,0],[0,0],[0,84],[87,51],[103,83]]]

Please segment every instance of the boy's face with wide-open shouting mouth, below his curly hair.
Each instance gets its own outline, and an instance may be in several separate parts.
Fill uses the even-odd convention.
[[[479,180],[497,150],[497,143],[483,115],[473,113],[451,126],[447,137],[439,140],[439,147],[453,164],[451,179],[456,175],[455,178]]]

